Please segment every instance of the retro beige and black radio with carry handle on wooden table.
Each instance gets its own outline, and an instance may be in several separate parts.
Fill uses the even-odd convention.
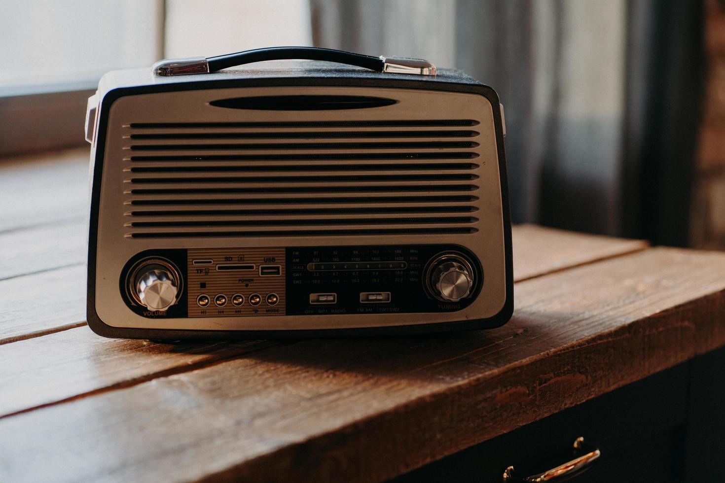
[[[279,59],[306,60],[230,69]],[[109,72],[86,123],[88,324],[165,340],[500,326],[504,135],[491,88],[421,59],[281,47]]]

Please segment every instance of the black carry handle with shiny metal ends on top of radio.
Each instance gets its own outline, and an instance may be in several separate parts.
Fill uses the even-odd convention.
[[[269,47],[268,49],[254,49],[236,52],[236,54],[218,55],[208,59],[204,57],[165,59],[154,64],[152,72],[154,72],[154,75],[207,74],[228,67],[251,64],[252,62],[283,59],[323,60],[364,67],[375,72],[436,75],[436,66],[424,59],[375,57],[341,50],[320,49],[320,47]]]

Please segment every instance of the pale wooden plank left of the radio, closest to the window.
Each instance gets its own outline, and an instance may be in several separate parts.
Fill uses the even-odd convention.
[[[86,219],[87,204],[88,148],[0,160],[0,232]]]

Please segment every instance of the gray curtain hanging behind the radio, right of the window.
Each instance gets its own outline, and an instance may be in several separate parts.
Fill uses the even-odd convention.
[[[685,43],[684,51],[700,41],[699,2],[680,3],[694,6],[674,0],[311,0],[317,46],[423,57],[496,89],[505,106],[514,222],[653,240],[658,228],[647,227],[640,186],[652,173],[642,159],[667,133],[658,127],[652,133],[659,121],[650,118],[662,99],[648,85],[666,83],[673,62],[683,58],[675,55],[667,67],[650,61],[673,56],[672,49],[661,51],[668,38]],[[679,17],[666,25],[670,13]],[[684,134],[689,146],[695,130]],[[694,144],[681,155],[692,154],[688,149]],[[687,173],[681,175],[687,184]],[[686,234],[687,219],[682,227]]]

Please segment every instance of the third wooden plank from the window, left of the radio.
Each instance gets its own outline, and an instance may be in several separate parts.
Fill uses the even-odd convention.
[[[0,345],[85,325],[86,266],[0,280],[0,307]]]

